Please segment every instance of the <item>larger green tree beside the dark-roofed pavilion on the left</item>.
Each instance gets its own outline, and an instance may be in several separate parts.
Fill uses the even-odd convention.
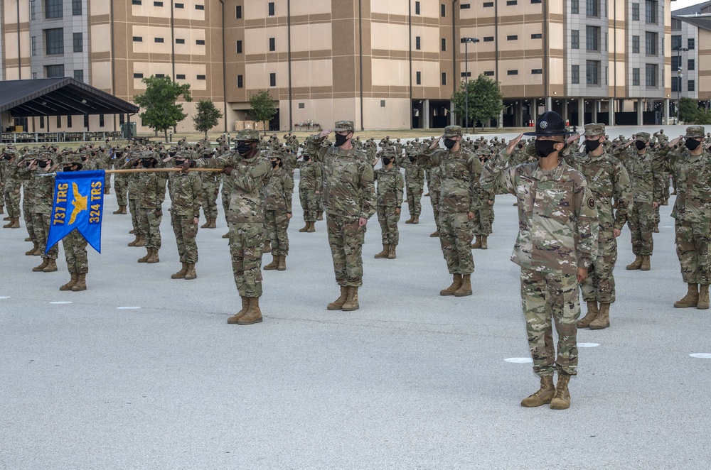
[[[139,116],[146,126],[156,132],[163,131],[167,142],[168,129],[188,116],[183,113],[183,105],[176,104],[176,101],[180,97],[183,97],[186,102],[193,101],[190,84],[179,84],[173,82],[171,77],[153,75],[144,78],[141,82],[146,84],[146,92],[134,97],[134,102],[144,109]]]

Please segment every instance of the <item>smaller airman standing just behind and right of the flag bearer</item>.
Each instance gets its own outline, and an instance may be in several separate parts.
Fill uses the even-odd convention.
[[[265,270],[283,271],[287,269],[287,256],[289,255],[287,229],[289,220],[292,219],[294,180],[289,172],[282,167],[283,154],[284,152],[279,151],[269,155],[272,177],[264,187],[264,200],[267,203],[267,210],[264,212],[265,228],[269,240],[272,241],[272,262],[264,266]]]

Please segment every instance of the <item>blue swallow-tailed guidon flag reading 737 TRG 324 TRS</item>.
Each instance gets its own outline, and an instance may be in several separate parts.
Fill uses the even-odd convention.
[[[103,212],[104,170],[57,173],[47,251],[77,229],[101,253]]]

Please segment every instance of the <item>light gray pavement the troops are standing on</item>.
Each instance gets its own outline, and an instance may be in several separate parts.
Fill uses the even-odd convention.
[[[32,273],[26,231],[0,229],[0,469],[711,464],[711,359],[690,356],[711,353],[710,312],[672,307],[685,285],[671,206],[648,273],[624,270],[623,231],[612,326],[579,332],[588,347],[572,406],[555,411],[520,407],[538,378],[530,363],[506,361],[529,357],[509,261],[513,196],[497,197],[489,249],[474,252],[471,297],[438,295],[450,278],[428,236],[429,198],[421,224],[402,219],[397,260],[373,259],[371,219],[360,310],[346,313],[326,310],[338,288],[325,222],[299,233],[295,195],[288,268],[264,273],[264,322],[247,327],[225,323],[239,297],[221,214],[218,229],[198,233],[198,279],[171,280],[180,265],[169,217],[161,263],[138,264],[144,248],[126,246],[129,216],[110,213],[115,201],[107,196],[84,293],[58,290],[63,252],[57,273]]]

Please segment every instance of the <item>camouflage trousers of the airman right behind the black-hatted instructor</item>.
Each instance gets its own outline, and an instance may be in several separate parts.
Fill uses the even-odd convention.
[[[601,304],[615,302],[615,278],[612,271],[617,263],[617,239],[612,231],[600,231],[597,258],[587,270],[587,278],[580,283],[582,300]]]

